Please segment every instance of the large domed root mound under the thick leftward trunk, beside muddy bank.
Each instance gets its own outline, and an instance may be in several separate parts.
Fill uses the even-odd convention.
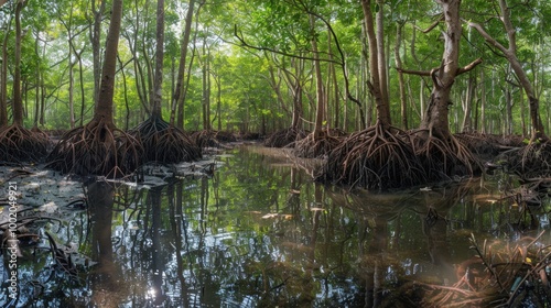
[[[132,135],[104,120],[73,129],[47,156],[48,166],[62,173],[102,175],[131,174],[141,164],[143,148]]]

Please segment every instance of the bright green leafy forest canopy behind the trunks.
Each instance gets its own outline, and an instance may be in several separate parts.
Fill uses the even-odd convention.
[[[12,58],[13,58],[13,24],[9,29],[8,21],[13,14],[13,0],[0,7],[0,47],[8,52],[8,76],[6,80],[7,97],[11,98],[12,89]],[[547,50],[547,37],[551,34],[549,19],[551,3],[549,1],[507,1],[511,21],[517,30],[517,55],[522,63],[529,78],[537,82],[536,88],[542,99],[549,97],[545,80],[548,72],[543,69],[550,64]],[[208,78],[210,88],[209,110],[213,127],[222,121],[224,129],[238,130],[246,125],[249,130],[260,130],[268,125],[268,130],[278,130],[289,127],[293,110],[293,87],[298,80],[301,84],[303,119],[305,123],[313,120],[315,111],[315,80],[311,58],[311,42],[316,40],[322,58],[322,77],[328,96],[328,121],[335,123],[335,112],[339,111],[339,125],[345,120],[348,128],[358,122],[358,109],[346,99],[344,86],[344,63],[349,81],[350,92],[367,107],[372,103],[367,90],[366,80],[369,72],[366,69],[367,56],[371,51],[367,48],[365,31],[363,30],[363,10],[357,1],[328,0],[253,0],[253,1],[223,1],[213,0],[195,3],[192,35],[187,56],[187,67],[191,66],[190,84],[186,87],[184,107],[185,129],[202,129],[201,114],[203,112],[203,78],[202,67],[209,62]],[[396,44],[396,29],[402,25],[402,42],[399,55],[407,69],[430,70],[441,65],[443,41],[441,33],[442,22],[423,33],[439,21],[440,8],[432,0],[387,0],[371,1],[374,12],[382,12],[385,20],[385,41],[388,47],[387,64],[389,67],[389,89],[395,123],[399,122],[400,101],[398,97],[399,80],[393,69],[393,46]],[[154,1],[134,0],[125,1],[121,42],[119,57],[125,68],[117,75],[115,117],[117,125],[133,127],[147,117],[144,106],[149,105],[149,95],[152,82],[152,61],[154,58],[155,31]],[[165,61],[163,85],[163,117],[170,119],[172,96],[174,91],[177,67],[180,65],[180,44],[183,32],[183,21],[188,8],[188,1],[169,1],[165,11]],[[22,11],[22,26],[24,36],[22,42],[22,77],[23,89],[26,90],[25,124],[34,122],[36,95],[39,101],[44,99],[46,129],[67,129],[68,109],[68,67],[74,66],[74,102],[75,117],[89,120],[94,112],[94,67],[90,43],[93,12],[89,1],[28,1]],[[463,1],[462,16],[465,20],[484,25],[486,31],[507,46],[507,37],[501,22],[495,18],[497,1],[473,0]],[[311,14],[314,15],[314,25],[311,25]],[[105,32],[109,22],[108,12],[104,16],[101,44],[105,42]],[[327,24],[336,35],[329,36]],[[78,65],[73,54],[69,59],[69,32],[83,66]],[[251,46],[258,48],[239,47],[237,34]],[[2,46],[3,37],[8,35],[7,45]],[[331,46],[329,46],[331,38]],[[475,58],[483,58],[484,63],[477,67],[476,74],[485,73],[485,80],[478,80],[476,97],[478,101],[485,96],[487,106],[486,120],[494,121],[494,132],[504,127],[504,92],[505,80],[516,82],[508,69],[508,63],[498,56],[495,50],[476,33],[464,26],[462,36],[460,62],[466,65]],[[337,50],[337,44],[344,54]],[[208,50],[208,53],[207,53]],[[75,52],[75,51],[73,51]],[[278,53],[283,53],[281,55]],[[206,56],[208,54],[208,57]],[[292,58],[301,56],[302,59]],[[0,54],[1,57],[1,54]],[[335,62],[333,70],[328,61]],[[300,69],[299,69],[300,68]],[[271,69],[271,73],[270,73]],[[44,84],[44,94],[36,91],[39,86],[37,74],[41,73]],[[121,73],[125,73],[125,79]],[[271,75],[273,74],[273,75]],[[333,79],[335,74],[335,81]],[[80,81],[82,75],[82,81]],[[458,127],[462,119],[461,101],[465,97],[466,78],[454,85],[454,105],[451,112],[452,127]],[[187,80],[187,72],[184,76]],[[424,79],[425,88],[421,81]],[[126,82],[126,85],[123,84]],[[335,91],[335,85],[337,90]],[[408,96],[408,113],[413,122],[419,121],[420,97],[428,98],[432,80],[428,77],[406,75]],[[486,92],[482,91],[484,84]],[[218,94],[219,86],[219,94]],[[280,97],[274,91],[279,88]],[[512,86],[510,86],[512,87]],[[84,89],[84,95],[80,89]],[[520,91],[512,87],[515,107],[512,117],[515,131],[520,132]],[[336,99],[335,99],[335,92]],[[219,95],[219,110],[218,110]],[[547,102],[545,102],[547,103]],[[548,110],[547,105],[542,110]],[[84,109],[83,109],[84,108]],[[479,108],[477,105],[476,108]],[[346,111],[346,116],[345,116]],[[478,110],[480,112],[480,110]],[[128,120],[127,120],[128,114]],[[528,113],[525,111],[525,119]],[[346,118],[346,119],[345,119]],[[456,120],[457,119],[457,120]],[[479,120],[479,118],[478,118]],[[307,128],[307,124],[304,124]],[[357,127],[356,127],[357,128]]]

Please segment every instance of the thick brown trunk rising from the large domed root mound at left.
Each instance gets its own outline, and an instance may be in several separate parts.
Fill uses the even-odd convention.
[[[101,69],[101,86],[98,102],[94,113],[96,121],[105,121],[109,125],[112,122],[112,98],[115,94],[115,72],[117,69],[117,48],[119,45],[120,23],[122,19],[122,0],[112,1],[111,21]]]

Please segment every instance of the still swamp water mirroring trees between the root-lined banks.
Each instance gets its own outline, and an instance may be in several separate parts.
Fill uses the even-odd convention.
[[[166,178],[156,187],[88,184],[87,206],[32,220],[35,238],[25,237],[18,258],[19,297],[6,292],[4,257],[0,301],[414,307],[425,300],[420,285],[457,282],[458,264],[475,255],[472,233],[479,242],[506,241],[520,234],[511,221],[525,221],[503,198],[508,177],[350,193],[312,182],[313,162],[282,150],[245,145],[214,160],[210,177]],[[549,224],[545,212],[531,219],[534,233]]]

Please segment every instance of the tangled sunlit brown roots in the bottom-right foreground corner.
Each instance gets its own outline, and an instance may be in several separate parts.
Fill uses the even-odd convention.
[[[525,237],[517,244],[479,244],[471,235],[476,256],[457,266],[453,286],[422,285],[426,307],[547,307],[551,301],[549,246]]]

